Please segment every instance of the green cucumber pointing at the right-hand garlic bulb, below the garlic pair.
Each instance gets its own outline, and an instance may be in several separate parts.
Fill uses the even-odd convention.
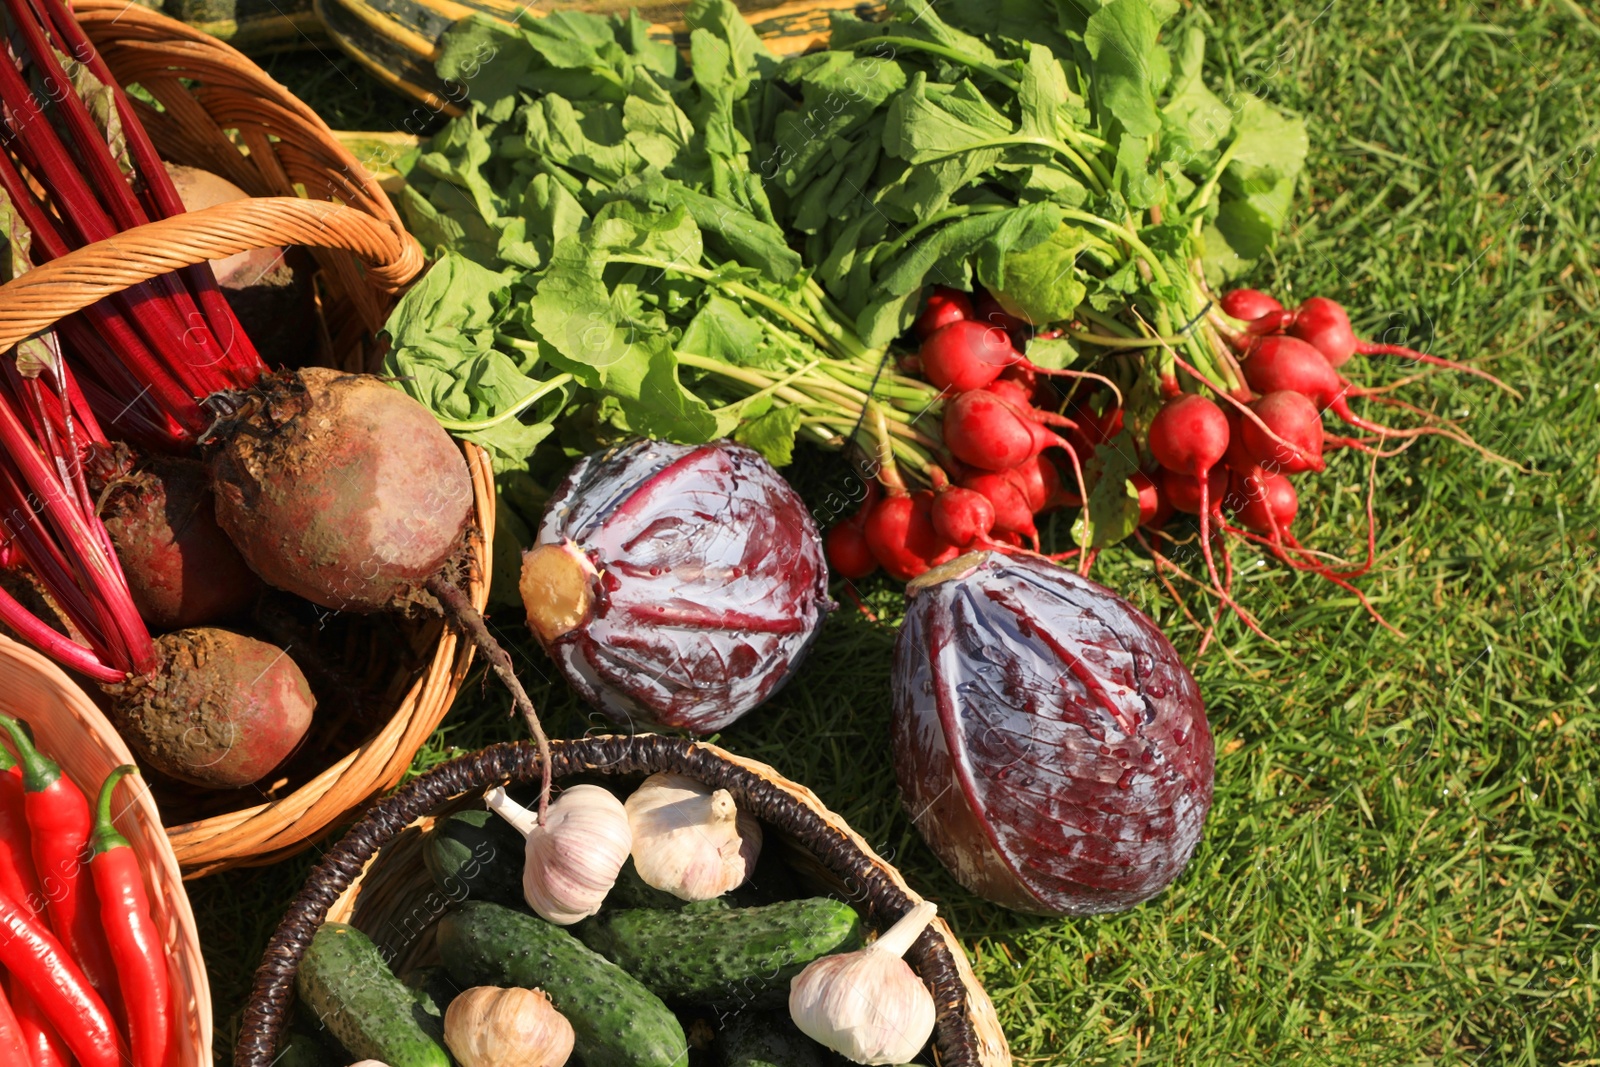
[[[590,949],[666,1001],[773,1008],[806,963],[861,947],[861,917],[829,897],[702,912],[634,909],[578,926]]]

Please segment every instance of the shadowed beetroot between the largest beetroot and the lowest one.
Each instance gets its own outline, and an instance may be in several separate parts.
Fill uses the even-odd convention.
[[[261,579],[216,525],[205,466],[160,456],[107,486],[106,531],[146,622],[176,630],[245,611]]]

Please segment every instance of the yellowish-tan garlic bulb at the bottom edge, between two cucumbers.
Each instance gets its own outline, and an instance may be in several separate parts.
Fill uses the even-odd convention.
[[[445,1045],[461,1067],[562,1067],[573,1024],[538,989],[477,985],[445,1009]]]

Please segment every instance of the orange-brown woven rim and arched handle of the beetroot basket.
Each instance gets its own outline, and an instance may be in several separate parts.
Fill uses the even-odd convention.
[[[248,91],[259,96],[270,106],[267,114],[275,120],[291,117],[294,128],[285,126],[282,136],[299,138],[301,144],[315,141],[322,158],[338,173],[338,187],[349,190],[358,203],[349,206],[304,197],[253,197],[149,222],[75,250],[0,286],[0,352],[144,277],[246,248],[302,243],[350,251],[370,264],[363,283],[387,293],[421,272],[421,246],[405,230],[376,179],[310,107],[251,59],[176,19],[122,0],[78,0],[75,16],[102,53],[115,53],[125,45],[136,48],[139,62],[144,64],[141,78],[146,77],[144,70],[158,69],[158,80],[166,88],[182,85],[192,99],[186,107],[205,109],[192,85],[195,78],[203,88],[206,72],[226,72],[235,94]],[[117,72],[115,62],[112,69]],[[186,74],[194,78],[182,82]],[[270,136],[270,130],[259,123],[251,133],[258,138]],[[230,142],[226,147],[229,152],[240,150]],[[266,147],[266,141],[258,142],[258,147]],[[269,163],[261,160],[261,165]],[[275,160],[272,165],[280,166]],[[488,453],[469,442],[461,442],[461,446],[474,490],[470,577],[466,592],[474,608],[483,611],[488,605],[490,545],[496,522],[494,475]],[[422,673],[374,736],[296,790],[269,803],[168,827],[186,877],[282,859],[307,848],[338,819],[392,789],[410,768],[416,750],[448,713],[474,654],[470,641],[462,641],[453,627],[443,627],[432,651],[419,664]]]

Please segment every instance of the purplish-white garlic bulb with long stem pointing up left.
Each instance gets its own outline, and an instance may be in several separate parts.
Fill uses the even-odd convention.
[[[598,785],[573,785],[539,816],[491,789],[483,801],[526,838],[522,896],[541,918],[571,926],[600,910],[634,849],[622,801]]]

